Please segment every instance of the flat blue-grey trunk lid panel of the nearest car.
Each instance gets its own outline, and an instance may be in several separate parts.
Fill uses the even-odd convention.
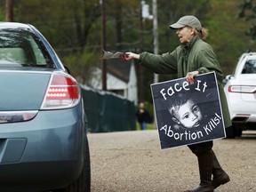
[[[0,70],[0,112],[38,110],[50,77],[43,70]]]

